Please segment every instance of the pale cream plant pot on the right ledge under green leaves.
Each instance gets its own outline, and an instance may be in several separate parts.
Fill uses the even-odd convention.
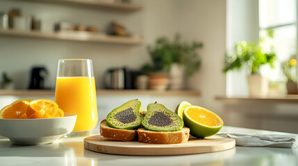
[[[249,95],[267,95],[269,89],[269,81],[267,77],[261,75],[247,75],[249,86]]]

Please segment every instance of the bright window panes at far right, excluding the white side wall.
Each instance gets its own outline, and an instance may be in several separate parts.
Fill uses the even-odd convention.
[[[259,0],[259,36],[265,39],[263,47],[274,47],[277,61],[274,69],[262,68],[262,74],[271,82],[284,82],[281,64],[297,53],[296,0]],[[272,29],[274,38],[267,37],[267,29]]]

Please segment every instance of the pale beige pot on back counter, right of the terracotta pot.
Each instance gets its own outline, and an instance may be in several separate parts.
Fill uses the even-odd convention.
[[[180,64],[172,64],[169,71],[169,89],[179,90],[184,88],[185,67]]]

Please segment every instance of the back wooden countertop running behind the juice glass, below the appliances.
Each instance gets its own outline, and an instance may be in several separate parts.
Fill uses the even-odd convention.
[[[112,90],[99,89],[97,95],[192,95],[198,96],[201,93],[194,90],[179,91],[156,91],[156,90]],[[53,90],[0,90],[0,95],[55,95]]]

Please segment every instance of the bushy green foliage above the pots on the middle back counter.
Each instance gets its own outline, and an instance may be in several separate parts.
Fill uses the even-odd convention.
[[[144,73],[169,72],[171,65],[177,63],[185,66],[185,73],[191,76],[201,65],[197,49],[202,47],[201,42],[181,42],[179,34],[175,35],[173,41],[170,41],[167,37],[160,37],[156,39],[154,47],[148,46],[151,63],[144,64],[141,70]]]

